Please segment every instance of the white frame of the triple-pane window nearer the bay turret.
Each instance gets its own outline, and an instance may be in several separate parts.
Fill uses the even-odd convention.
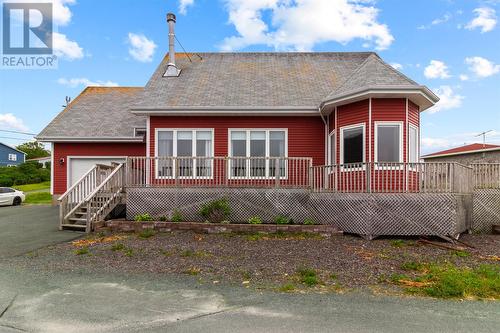
[[[266,133],[266,153],[264,158],[266,158],[266,175],[264,177],[262,176],[251,176],[250,175],[250,160],[248,159],[245,165],[246,171],[245,171],[245,176],[238,177],[238,176],[233,176],[231,174],[231,163],[228,163],[228,179],[274,179],[275,176],[270,176],[269,175],[269,156],[270,154],[270,144],[271,144],[271,138],[270,138],[270,132],[285,132],[285,156],[283,158],[286,159],[288,158],[288,129],[287,128],[229,128],[227,132],[227,140],[228,140],[228,151],[227,155],[229,157],[233,157],[232,151],[233,151],[233,146],[232,146],[232,140],[231,140],[231,133],[232,132],[245,132],[245,140],[246,140],[246,157],[249,158],[250,156],[250,132],[265,132]],[[274,157],[274,156],[273,156]],[[231,162],[231,160],[230,160]],[[285,176],[282,177],[280,176],[279,179],[288,179],[288,163],[285,163]]]

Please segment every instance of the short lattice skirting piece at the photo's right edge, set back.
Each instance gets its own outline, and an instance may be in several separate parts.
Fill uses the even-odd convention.
[[[500,224],[500,189],[474,191],[473,230],[490,233],[494,224]]]

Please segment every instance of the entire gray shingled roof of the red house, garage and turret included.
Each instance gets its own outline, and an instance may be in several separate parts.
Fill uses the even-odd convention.
[[[134,127],[145,127],[146,120],[131,111],[315,112],[324,102],[373,88],[412,88],[435,97],[372,52],[178,53],[176,59],[178,77],[163,76],[166,55],[144,88],[85,89],[38,138],[133,139]]]

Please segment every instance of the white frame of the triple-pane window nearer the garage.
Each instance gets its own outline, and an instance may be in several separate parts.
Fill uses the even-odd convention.
[[[172,132],[172,139],[173,139],[173,146],[172,146],[172,155],[171,157],[178,157],[177,156],[177,132],[191,132],[192,135],[192,155],[191,157],[197,157],[196,156],[196,133],[197,132],[210,132],[211,133],[211,138],[212,138],[212,156],[207,156],[207,157],[212,157],[212,162],[211,162],[211,176],[198,176],[195,175],[196,173],[196,158],[193,159],[193,175],[192,176],[179,176],[179,179],[213,179],[214,178],[214,157],[215,157],[215,139],[214,139],[214,129],[213,128],[155,128],[155,179],[175,179],[175,172],[172,174],[172,176],[160,176],[158,174],[158,159],[156,157],[158,156],[158,133],[159,132]],[[189,156],[183,156],[188,158]],[[201,156],[198,156],[201,157]],[[172,170],[176,170],[177,165],[175,163],[175,160],[172,163]]]

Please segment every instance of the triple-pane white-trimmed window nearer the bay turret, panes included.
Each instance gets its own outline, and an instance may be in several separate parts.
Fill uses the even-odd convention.
[[[230,129],[230,178],[286,177],[288,133],[286,129]],[[284,159],[273,159],[283,157]],[[277,161],[277,162],[276,162]]]

